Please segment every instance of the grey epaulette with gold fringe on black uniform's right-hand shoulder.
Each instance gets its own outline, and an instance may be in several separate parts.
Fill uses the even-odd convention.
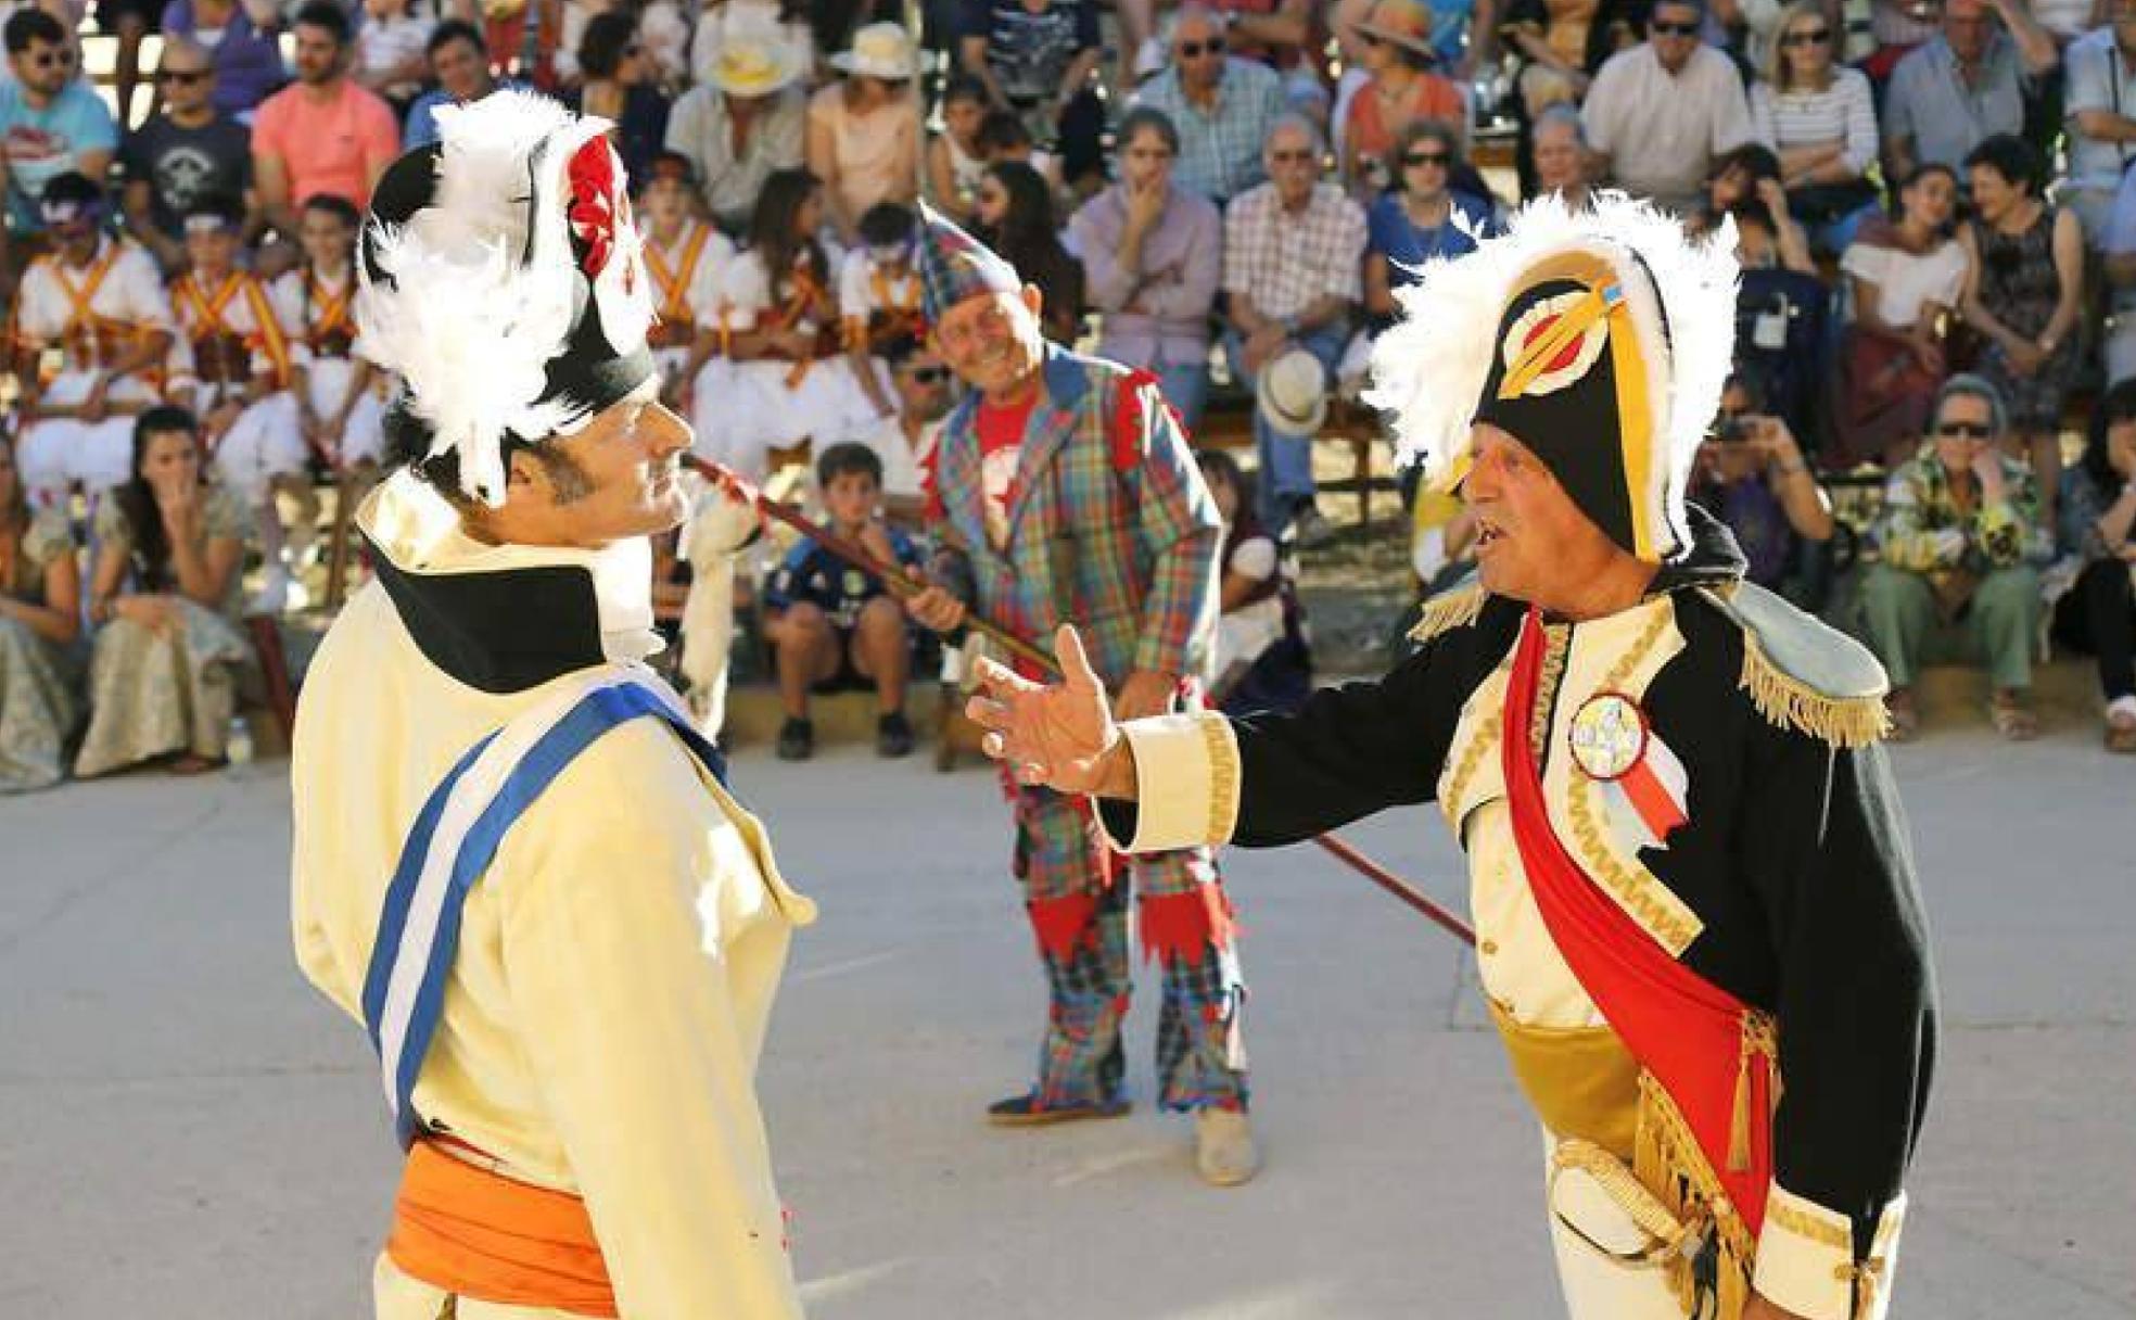
[[[1890,733],[1888,683],[1869,647],[1756,583],[1700,594],[1743,630],[1737,686],[1769,722],[1848,750]]]

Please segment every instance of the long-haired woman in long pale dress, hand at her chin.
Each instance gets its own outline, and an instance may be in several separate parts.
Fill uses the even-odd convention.
[[[132,478],[96,510],[90,575],[90,733],[75,775],[169,756],[173,773],[222,765],[252,647],[237,626],[246,510],[201,472],[184,408],[135,425]]]

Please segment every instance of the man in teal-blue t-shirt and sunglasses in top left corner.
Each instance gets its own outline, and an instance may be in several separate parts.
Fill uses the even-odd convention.
[[[75,47],[56,17],[17,9],[4,36],[15,81],[0,85],[0,175],[9,237],[21,237],[41,229],[36,199],[53,177],[105,177],[120,130],[96,92],[75,79]]]

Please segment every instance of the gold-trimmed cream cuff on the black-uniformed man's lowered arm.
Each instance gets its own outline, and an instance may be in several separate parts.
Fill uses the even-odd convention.
[[[1856,1262],[1852,1220],[1775,1181],[1764,1203],[1752,1288],[1807,1320],[1882,1320],[1890,1307],[1903,1222],[1905,1192],[1878,1215],[1869,1260]],[[1863,1303],[1860,1309],[1854,1305],[1856,1299]]]

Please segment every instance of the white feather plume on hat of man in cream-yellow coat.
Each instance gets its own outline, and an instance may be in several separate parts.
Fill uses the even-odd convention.
[[[410,406],[436,431],[431,455],[459,451],[461,487],[500,504],[504,431],[547,436],[577,421],[570,404],[536,399],[577,310],[564,167],[607,122],[506,90],[440,109],[438,130],[436,203],[374,231],[391,282],[372,282],[359,263],[357,342],[406,380]]]

